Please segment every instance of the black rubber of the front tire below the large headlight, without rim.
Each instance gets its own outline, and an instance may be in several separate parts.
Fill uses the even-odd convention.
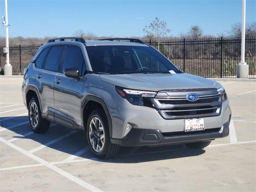
[[[92,146],[93,144],[90,141],[90,131],[89,131],[90,123],[92,122],[92,119],[94,119],[94,118],[98,118],[101,121],[101,123],[103,125],[103,129],[104,129],[104,145],[100,152],[97,152],[93,148],[93,146]],[[97,158],[100,158],[100,159],[113,158],[114,156],[116,156],[118,154],[118,152],[120,150],[119,145],[112,144],[110,141],[110,135],[109,135],[109,129],[108,129],[108,119],[106,117],[105,112],[101,109],[96,109],[96,110],[92,111],[92,113],[90,114],[88,121],[87,121],[87,126],[86,126],[86,136],[87,136],[90,150],[94,154],[94,156],[96,156]]]

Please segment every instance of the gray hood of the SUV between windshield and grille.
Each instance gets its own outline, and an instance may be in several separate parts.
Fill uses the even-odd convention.
[[[104,82],[136,90],[159,91],[166,89],[220,88],[221,85],[210,79],[180,74],[101,74]]]

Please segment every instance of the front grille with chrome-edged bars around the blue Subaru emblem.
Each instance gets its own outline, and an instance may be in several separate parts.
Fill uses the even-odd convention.
[[[197,101],[188,101],[186,96],[196,93]],[[164,96],[164,94],[166,96]],[[218,116],[221,112],[222,95],[216,89],[166,90],[151,99],[152,104],[165,119],[198,118]]]

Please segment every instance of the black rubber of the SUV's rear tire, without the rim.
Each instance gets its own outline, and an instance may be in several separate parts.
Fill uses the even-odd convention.
[[[32,125],[33,120],[30,119],[30,110],[31,110],[31,105],[36,104],[37,110],[38,110],[38,121],[37,124],[35,126],[35,124]],[[41,109],[40,109],[40,105],[38,102],[38,98],[37,97],[32,97],[30,99],[29,105],[28,105],[28,121],[30,124],[30,128],[33,132],[35,133],[45,133],[48,131],[49,127],[50,127],[50,121],[45,120],[42,118],[42,114],[41,114]]]

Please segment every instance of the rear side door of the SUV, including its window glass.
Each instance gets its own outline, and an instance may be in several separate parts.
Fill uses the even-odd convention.
[[[52,46],[42,50],[35,61],[35,82],[40,94],[42,113],[54,108],[54,79],[62,59],[65,46]],[[52,113],[53,114],[53,113]],[[49,117],[54,120],[53,116]]]

